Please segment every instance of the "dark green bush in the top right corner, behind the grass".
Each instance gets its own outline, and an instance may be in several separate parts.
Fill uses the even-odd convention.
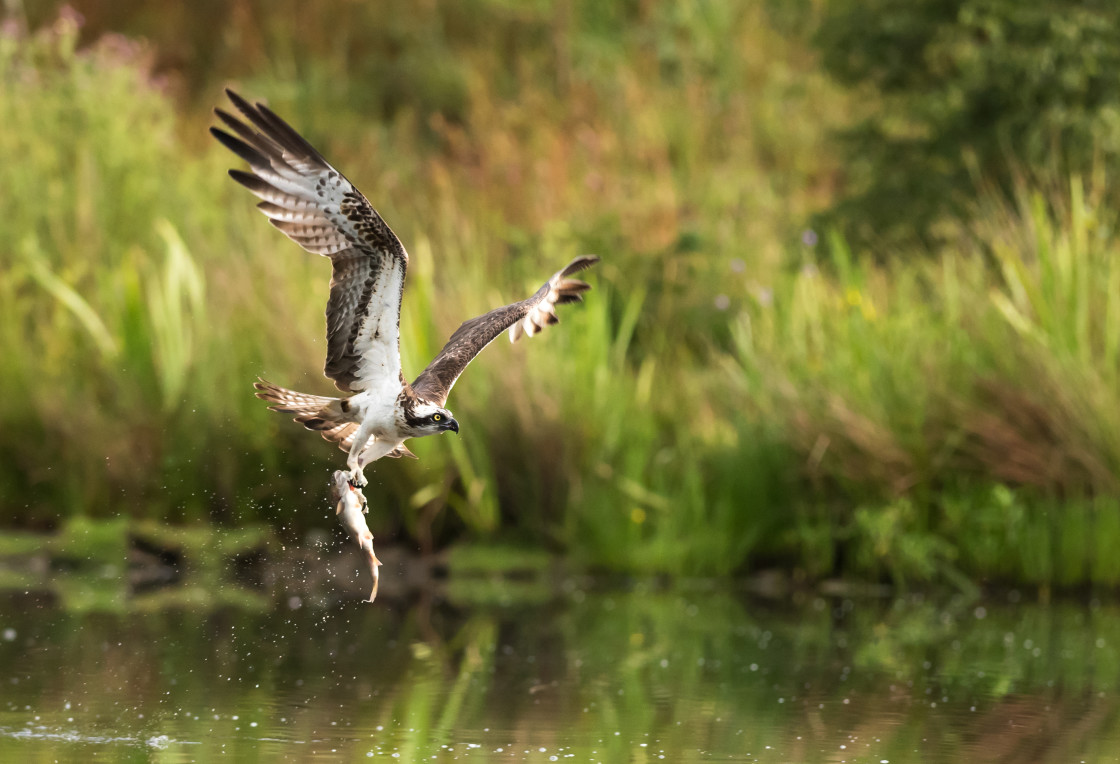
[[[1117,3],[832,0],[815,44],[875,103],[824,220],[880,257],[959,234],[978,180],[1120,168]]]

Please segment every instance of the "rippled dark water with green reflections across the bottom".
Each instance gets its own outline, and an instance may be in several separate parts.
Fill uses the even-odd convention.
[[[4,595],[0,761],[1120,760],[1120,608]]]

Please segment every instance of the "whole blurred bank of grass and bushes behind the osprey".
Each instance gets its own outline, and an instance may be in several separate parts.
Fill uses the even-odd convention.
[[[1029,7],[1027,7],[1029,6]],[[0,31],[0,522],[333,523],[329,267],[225,175],[265,100],[411,254],[458,438],[367,472],[379,539],[591,569],[1120,583],[1111,2],[13,0]]]

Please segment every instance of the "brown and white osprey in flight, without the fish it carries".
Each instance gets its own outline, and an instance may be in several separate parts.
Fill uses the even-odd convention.
[[[409,255],[366,198],[287,122],[268,106],[250,104],[226,91],[249,121],[215,109],[233,131],[211,128],[226,148],[249,162],[252,173],[230,170],[234,180],[261,198],[256,206],[276,227],[308,252],[330,258],[327,300],[327,362],[324,374],[354,393],[326,398],[284,390],[260,380],[256,397],[272,411],[318,430],[347,451],[349,479],[365,485],[365,465],[416,455],[404,441],[459,431],[444,408],[451,385],[467,364],[502,332],[515,342],[557,323],[556,306],[582,299],[590,286],[572,273],[598,258],[572,260],[528,299],[464,323],[444,350],[411,384],[401,372],[400,317]]]

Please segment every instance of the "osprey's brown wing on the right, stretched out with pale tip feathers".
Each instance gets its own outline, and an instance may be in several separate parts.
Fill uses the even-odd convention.
[[[451,385],[459,379],[463,370],[497,335],[510,329],[510,342],[516,342],[522,333],[531,337],[549,324],[560,320],[557,318],[556,306],[584,299],[581,295],[591,288],[590,285],[568,277],[598,261],[594,254],[576,258],[529,299],[496,308],[464,323],[447,341],[439,355],[420,373],[412,383],[412,389],[426,401],[444,406]]]

